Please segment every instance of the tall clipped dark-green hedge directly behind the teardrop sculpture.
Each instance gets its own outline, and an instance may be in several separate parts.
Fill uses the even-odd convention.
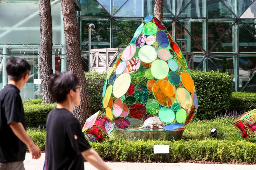
[[[102,109],[102,90],[106,73],[85,73],[92,102],[92,114]],[[135,75],[135,74],[133,74]],[[198,118],[212,119],[215,113],[226,111],[232,94],[233,76],[218,71],[191,71],[198,94]],[[140,75],[138,75],[140,77]],[[132,81],[136,77],[132,76]],[[142,78],[139,78],[143,81]]]

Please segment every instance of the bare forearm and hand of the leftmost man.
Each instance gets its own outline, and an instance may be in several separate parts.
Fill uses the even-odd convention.
[[[20,122],[11,122],[9,124],[10,128],[14,134],[28,146],[29,152],[32,154],[33,159],[38,159],[41,156],[41,150],[34,144],[33,140],[28,136],[26,130],[24,129],[22,123]]]

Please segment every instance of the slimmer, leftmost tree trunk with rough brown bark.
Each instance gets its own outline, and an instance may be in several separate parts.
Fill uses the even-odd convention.
[[[39,1],[40,16],[40,55],[39,67],[42,82],[42,103],[53,103],[54,100],[48,90],[48,82],[52,71],[52,15],[50,0]]]

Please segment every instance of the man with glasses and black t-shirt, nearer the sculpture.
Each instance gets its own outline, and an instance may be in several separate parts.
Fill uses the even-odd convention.
[[[82,128],[72,115],[80,105],[82,91],[77,77],[70,72],[51,76],[49,91],[57,101],[46,122],[46,169],[84,170],[84,158],[100,170],[110,170],[98,153],[90,147]]]

